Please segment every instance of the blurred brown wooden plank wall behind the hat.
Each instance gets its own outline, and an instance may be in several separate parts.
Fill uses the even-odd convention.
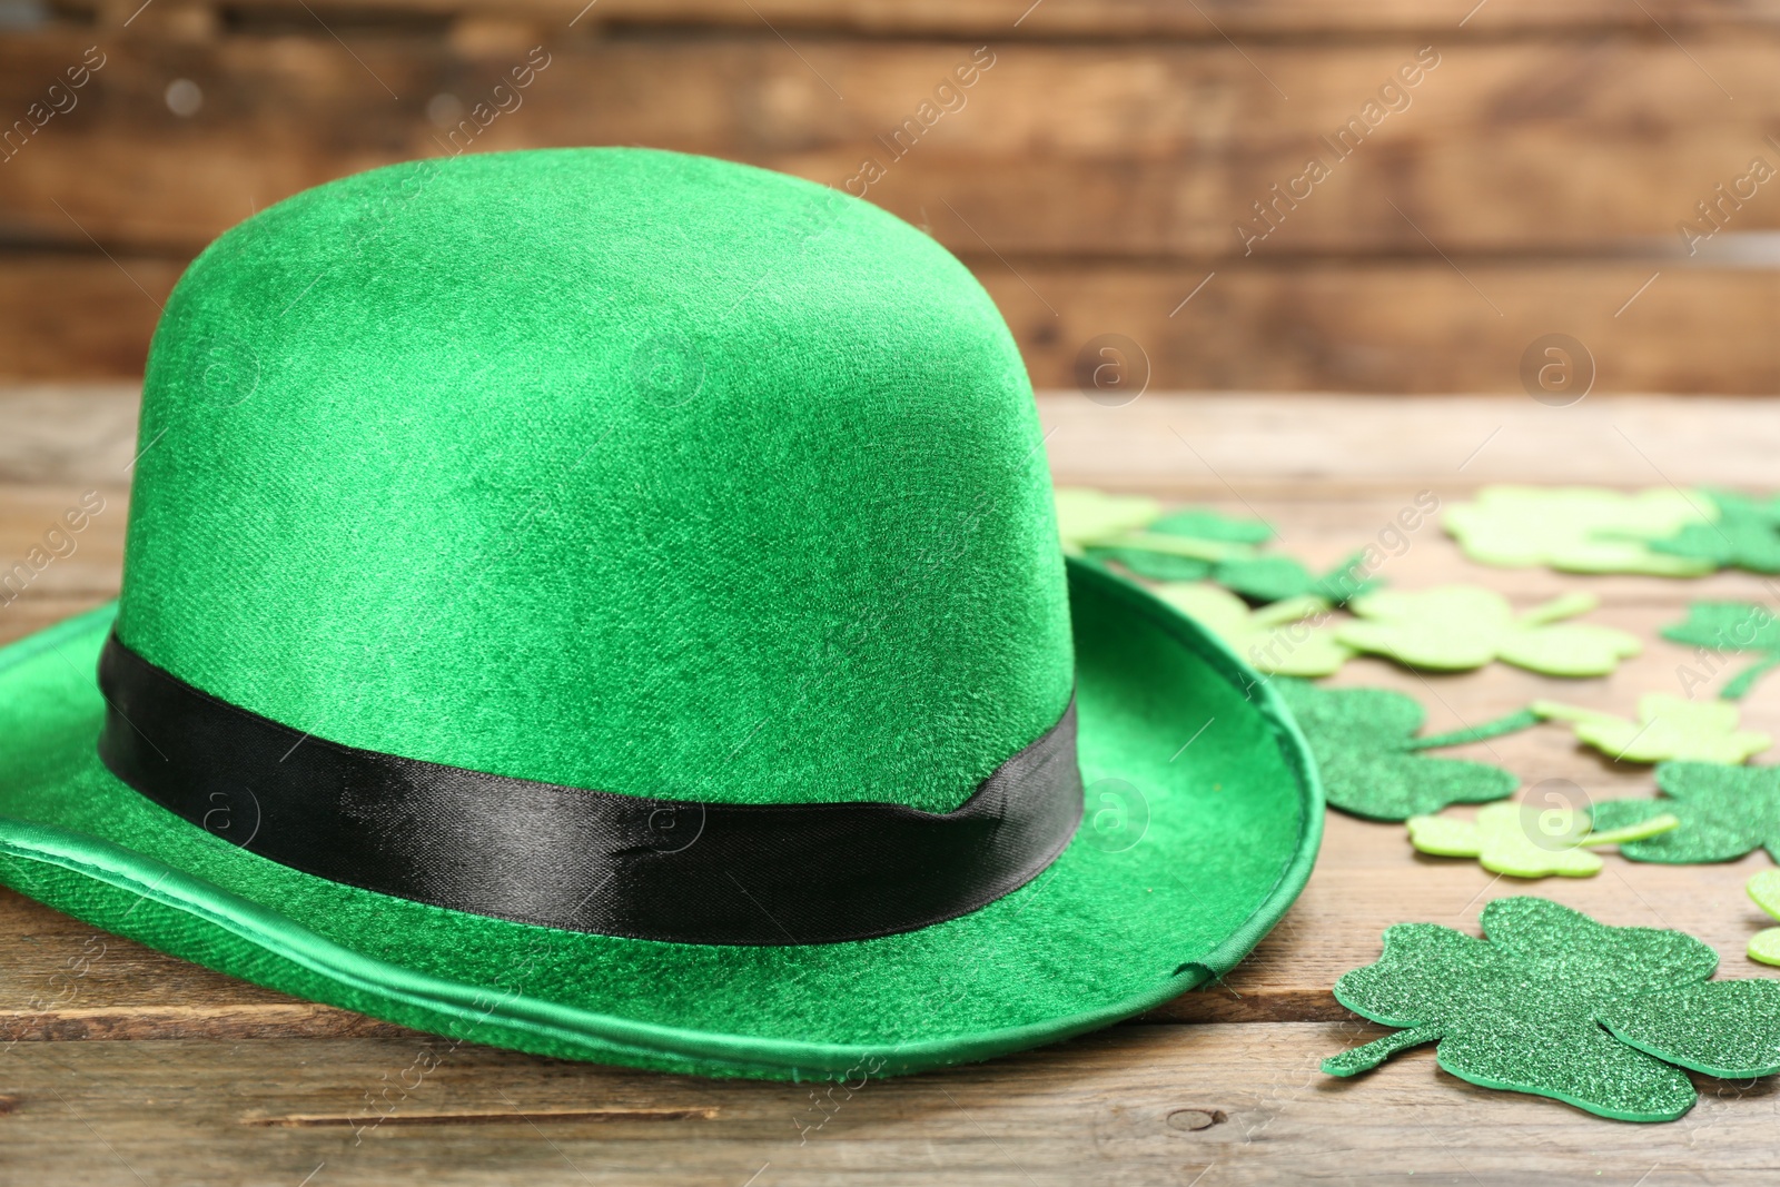
[[[0,0],[0,375],[139,374],[214,235],[456,128],[876,160],[1040,386],[1123,335],[1150,386],[1518,392],[1563,333],[1776,392],[1776,68],[1780,0]]]

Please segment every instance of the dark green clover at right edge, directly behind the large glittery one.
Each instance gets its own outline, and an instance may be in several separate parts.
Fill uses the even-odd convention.
[[[1780,767],[1727,767],[1716,762],[1666,762],[1657,787],[1668,799],[1609,799],[1595,804],[1595,824],[1620,828],[1670,812],[1680,828],[1620,845],[1632,861],[1703,865],[1736,861],[1766,849],[1780,861]]]

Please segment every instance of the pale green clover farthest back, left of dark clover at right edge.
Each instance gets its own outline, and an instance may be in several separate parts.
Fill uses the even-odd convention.
[[[1643,541],[1671,537],[1711,516],[1707,498],[1675,489],[1623,495],[1588,486],[1486,486],[1476,502],[1447,509],[1445,529],[1481,564],[1698,577],[1712,571],[1709,561],[1652,552]]]

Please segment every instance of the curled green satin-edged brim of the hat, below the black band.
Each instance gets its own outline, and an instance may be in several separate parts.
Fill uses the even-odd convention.
[[[1141,587],[1070,562],[1077,838],[911,933],[803,947],[625,940],[331,883],[231,845],[96,755],[112,607],[0,650],[0,881],[96,927],[454,1039],[808,1078],[990,1059],[1223,975],[1298,897],[1323,792],[1273,689]]]

